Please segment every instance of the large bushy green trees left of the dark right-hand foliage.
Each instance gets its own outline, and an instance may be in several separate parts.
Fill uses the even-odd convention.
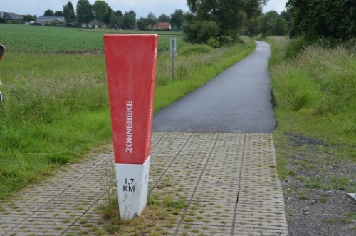
[[[240,34],[285,35],[288,19],[270,11],[262,13],[268,0],[187,0],[190,12],[183,31],[192,43],[221,45],[239,39]]]

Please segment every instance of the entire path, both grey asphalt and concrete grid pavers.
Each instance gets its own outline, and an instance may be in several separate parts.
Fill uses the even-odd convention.
[[[155,114],[150,194],[187,207],[152,233],[288,235],[271,134],[270,54],[257,42],[244,61]],[[115,185],[113,160],[112,148],[95,151],[1,204],[0,235],[105,235],[98,207]]]

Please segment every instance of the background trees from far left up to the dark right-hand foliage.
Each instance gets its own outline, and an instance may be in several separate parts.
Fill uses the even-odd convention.
[[[157,22],[170,22],[173,29],[183,29],[186,40],[191,43],[219,41],[230,43],[238,39],[239,34],[285,35],[288,32],[290,16],[283,11],[262,13],[266,0],[187,0],[190,12],[176,10],[170,16],[155,16],[152,12],[147,17],[136,19],[135,11],[113,11],[105,1],[78,0],[76,11],[68,1],[63,11],[46,10],[43,16],[64,16],[66,21],[88,24],[96,19],[108,26],[120,29],[152,29]],[[148,26],[148,27],[147,27]],[[219,44],[217,43],[217,44]],[[216,45],[217,45],[216,44]]]

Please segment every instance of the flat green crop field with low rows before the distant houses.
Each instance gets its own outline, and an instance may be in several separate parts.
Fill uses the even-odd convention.
[[[159,51],[169,49],[171,36],[181,46],[182,34],[177,32],[113,31],[47,26],[0,24],[0,43],[16,53],[85,53],[103,51],[104,34],[159,34]]]

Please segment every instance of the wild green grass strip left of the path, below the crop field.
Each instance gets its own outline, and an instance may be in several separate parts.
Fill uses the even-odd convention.
[[[182,46],[172,81],[159,53],[155,111],[206,83],[253,51],[253,41],[212,50]],[[180,54],[179,54],[180,53]],[[217,62],[217,63],[216,63]],[[103,54],[7,52],[0,64],[0,200],[111,140]]]

